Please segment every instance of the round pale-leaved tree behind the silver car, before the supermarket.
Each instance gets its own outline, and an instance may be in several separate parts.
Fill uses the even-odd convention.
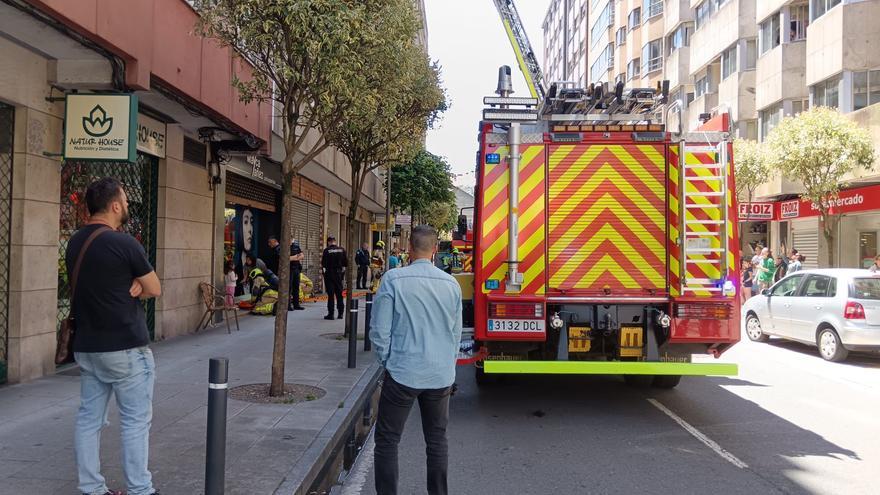
[[[832,202],[845,176],[871,169],[874,146],[870,134],[837,110],[814,107],[782,119],[765,146],[767,166],[803,184],[801,198],[819,210],[828,265],[834,266],[834,231],[839,217],[832,213]]]

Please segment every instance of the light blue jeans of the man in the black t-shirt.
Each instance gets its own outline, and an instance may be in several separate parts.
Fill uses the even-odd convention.
[[[110,394],[116,396],[122,433],[122,469],[128,495],[153,493],[147,469],[150,423],[153,418],[153,382],[156,364],[147,347],[115,352],[77,352],[80,366],[80,406],[76,417],[76,464],[79,491],[105,493],[101,476],[101,430],[107,421]]]

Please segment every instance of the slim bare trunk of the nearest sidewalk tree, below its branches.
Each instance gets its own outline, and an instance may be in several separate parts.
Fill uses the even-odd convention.
[[[287,172],[284,176],[283,196],[281,197],[281,255],[278,256],[278,301],[275,303],[275,341],[272,347],[272,381],[269,395],[277,397],[284,394],[284,365],[287,347],[287,305],[290,301],[290,214],[293,207],[293,179],[296,174]]]

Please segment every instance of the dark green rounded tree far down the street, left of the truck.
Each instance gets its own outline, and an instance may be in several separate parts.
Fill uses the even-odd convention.
[[[453,188],[449,163],[425,150],[391,169],[391,205],[414,217],[434,203],[455,204]]]

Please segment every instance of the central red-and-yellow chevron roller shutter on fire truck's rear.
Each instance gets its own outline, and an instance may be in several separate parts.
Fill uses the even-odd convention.
[[[664,153],[654,144],[549,147],[549,291],[666,293]]]

